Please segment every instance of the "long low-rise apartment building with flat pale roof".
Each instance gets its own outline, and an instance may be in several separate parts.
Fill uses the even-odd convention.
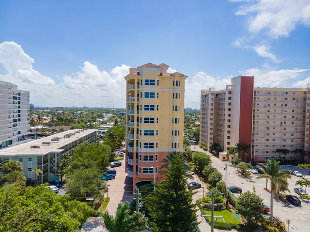
[[[15,145],[0,150],[0,162],[6,160],[19,161],[27,180],[42,184],[58,179],[57,168],[64,153],[71,154],[72,149],[87,141],[94,143],[97,130],[69,130],[50,135],[28,143]],[[43,173],[36,176],[33,172],[40,169]],[[3,171],[3,170],[2,170]],[[3,173],[5,174],[5,173]]]

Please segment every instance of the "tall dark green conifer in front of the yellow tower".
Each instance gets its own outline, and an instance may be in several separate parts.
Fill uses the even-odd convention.
[[[157,185],[156,192],[146,197],[146,206],[150,212],[153,232],[194,232],[198,223],[195,204],[192,203],[194,192],[187,191],[185,178],[185,160],[173,152],[164,160],[165,180]]]

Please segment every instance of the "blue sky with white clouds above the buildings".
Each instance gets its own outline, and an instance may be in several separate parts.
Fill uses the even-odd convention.
[[[309,0],[2,0],[0,80],[35,106],[125,108],[129,67],[165,63],[200,91],[310,83]]]

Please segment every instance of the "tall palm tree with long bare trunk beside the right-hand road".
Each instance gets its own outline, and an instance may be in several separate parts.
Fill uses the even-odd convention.
[[[263,169],[263,174],[258,178],[266,178],[270,180],[271,194],[270,194],[270,226],[273,220],[273,197],[279,199],[279,187],[288,190],[287,184],[283,180],[291,178],[290,170],[280,170],[279,162],[276,160],[267,160],[266,165],[259,163]]]

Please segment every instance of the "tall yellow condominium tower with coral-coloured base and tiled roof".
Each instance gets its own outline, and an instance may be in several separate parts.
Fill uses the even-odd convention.
[[[183,153],[186,75],[167,73],[166,64],[129,69],[126,80],[126,172],[133,188],[160,183],[163,160]]]

